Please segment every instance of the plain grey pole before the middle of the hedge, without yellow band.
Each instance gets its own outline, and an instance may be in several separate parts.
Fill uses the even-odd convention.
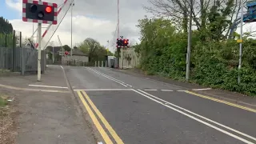
[[[193,0],[190,0],[190,26],[189,34],[187,38],[187,52],[186,52],[186,82],[190,79],[190,50],[191,50],[191,37],[192,37],[192,10],[193,10]]]

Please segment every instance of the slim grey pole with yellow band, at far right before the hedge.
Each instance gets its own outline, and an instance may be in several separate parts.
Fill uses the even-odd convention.
[[[239,66],[238,66],[238,84],[240,84],[241,82],[241,78],[240,78],[240,71],[242,68],[242,22],[243,22],[243,0],[240,0],[241,2],[241,31],[240,31],[240,45],[239,45]]]

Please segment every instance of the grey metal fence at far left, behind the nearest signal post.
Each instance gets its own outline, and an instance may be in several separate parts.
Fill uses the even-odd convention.
[[[38,50],[22,47],[22,33],[15,31],[10,36],[4,38],[4,46],[0,46],[0,69],[10,70],[11,72],[36,72],[38,70]],[[12,38],[10,40],[10,38]],[[9,39],[6,41],[6,39]],[[8,42],[12,42],[9,44]],[[0,43],[1,44],[1,43]],[[46,69],[46,54],[42,50],[42,74]]]

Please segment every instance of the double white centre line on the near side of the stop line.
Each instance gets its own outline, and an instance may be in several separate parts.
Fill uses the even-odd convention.
[[[134,89],[132,89],[132,90],[134,90]],[[246,142],[246,143],[249,143],[249,144],[254,144],[253,142],[250,142],[250,141],[248,141],[248,140],[246,140],[246,139],[244,139],[244,138],[240,138],[240,137],[238,137],[237,135],[231,134],[230,132],[228,132],[228,131],[226,131],[226,130],[222,130],[222,129],[218,128],[217,126],[211,125],[211,124],[208,123],[208,122],[212,122],[212,123],[214,123],[214,124],[216,124],[216,125],[218,125],[218,126],[222,126],[222,127],[226,128],[227,130],[231,130],[231,131],[233,131],[233,132],[235,132],[235,133],[237,133],[237,134],[241,134],[241,135],[243,135],[243,136],[245,136],[245,137],[247,137],[247,138],[250,138],[250,139],[256,141],[256,138],[254,138],[254,137],[252,137],[252,136],[250,136],[250,135],[248,135],[248,134],[244,134],[244,133],[242,133],[242,132],[240,132],[240,131],[238,131],[238,130],[234,130],[233,128],[230,128],[229,126],[222,125],[221,123],[214,122],[214,121],[211,120],[210,118],[206,118],[206,117],[203,117],[202,115],[195,114],[194,112],[192,112],[192,111],[190,111],[190,110],[186,110],[185,108],[182,108],[182,107],[180,107],[180,106],[174,105],[173,103],[167,102],[167,101],[165,101],[165,100],[163,100],[163,99],[161,99],[161,98],[158,98],[158,97],[156,97],[156,96],[154,96],[154,95],[152,95],[152,94],[148,94],[148,93],[146,93],[145,91],[142,91],[142,90],[134,90],[134,92],[136,92],[136,93],[138,93],[138,94],[141,94],[142,96],[144,96],[144,97],[146,97],[146,98],[149,98],[150,100],[152,100],[152,101],[154,101],[154,102],[158,102],[158,103],[161,104],[162,106],[166,106],[166,107],[168,107],[168,108],[170,108],[170,109],[172,109],[172,110],[174,110],[174,111],[177,111],[177,112],[180,113],[180,114],[186,115],[187,117],[192,118],[192,119],[194,119],[195,121],[201,122],[202,124],[205,124],[206,126],[210,126],[210,127],[214,128],[215,130],[221,131],[222,133],[227,134],[227,135],[230,135],[230,136],[233,137],[233,138],[237,138],[238,140],[240,140],[240,141],[242,141],[242,142]],[[143,93],[144,93],[144,94],[143,94]],[[174,108],[174,107],[172,107],[172,106],[174,106],[174,107],[176,107],[176,108]],[[179,110],[178,110],[177,108],[178,108]],[[186,114],[185,112],[182,112],[181,110],[186,111],[188,114]],[[198,118],[202,118],[202,119],[204,119],[204,120],[206,120],[206,121],[208,121],[208,122],[205,122],[205,121],[202,121],[201,119],[195,118],[193,115],[190,115],[190,114],[194,114],[194,116],[197,116]]]

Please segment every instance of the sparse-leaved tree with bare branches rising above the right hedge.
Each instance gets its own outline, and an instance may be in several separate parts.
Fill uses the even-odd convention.
[[[175,26],[187,32],[189,0],[149,0],[152,6],[145,9],[157,16],[170,18]],[[201,31],[201,38],[227,38],[231,27],[238,19],[240,0],[193,0],[194,26]],[[226,33],[226,34],[223,34]]]

